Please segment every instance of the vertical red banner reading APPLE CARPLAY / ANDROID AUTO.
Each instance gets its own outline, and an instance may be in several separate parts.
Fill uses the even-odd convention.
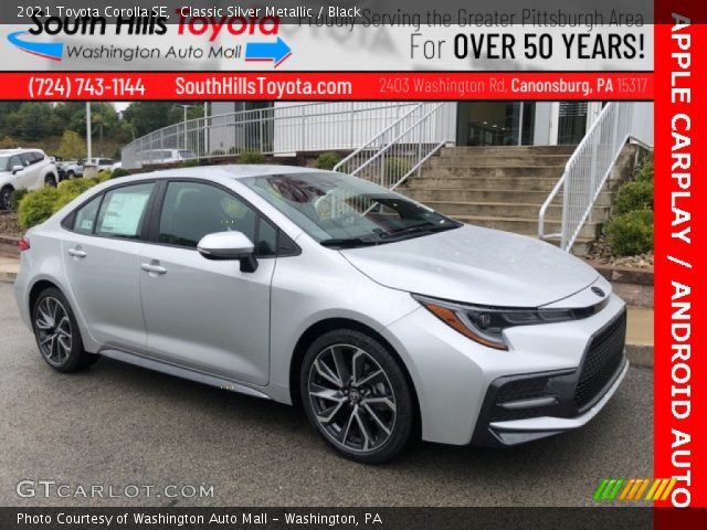
[[[654,476],[674,477],[656,506],[707,506],[707,31],[698,2],[656,2]],[[655,528],[680,527],[656,510]],[[688,515],[688,512],[684,512]]]

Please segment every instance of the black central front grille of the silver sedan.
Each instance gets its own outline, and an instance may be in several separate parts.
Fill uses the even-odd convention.
[[[623,361],[626,341],[626,312],[597,335],[584,357],[574,390],[574,405],[587,407],[613,379]]]

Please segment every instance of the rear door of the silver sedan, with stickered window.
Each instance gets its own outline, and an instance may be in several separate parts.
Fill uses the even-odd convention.
[[[95,340],[144,352],[140,256],[154,182],[112,188],[67,220],[62,254],[76,308]]]

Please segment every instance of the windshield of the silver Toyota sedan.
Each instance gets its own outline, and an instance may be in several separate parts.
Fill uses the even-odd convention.
[[[325,246],[378,245],[461,226],[399,193],[348,174],[273,174],[241,182]]]

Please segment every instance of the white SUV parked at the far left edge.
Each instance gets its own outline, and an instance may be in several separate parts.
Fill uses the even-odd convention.
[[[12,206],[17,190],[36,190],[57,182],[56,165],[41,149],[0,150],[0,209]]]

